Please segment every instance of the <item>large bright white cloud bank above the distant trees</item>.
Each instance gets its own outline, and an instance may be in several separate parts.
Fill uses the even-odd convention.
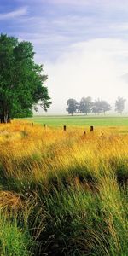
[[[123,56],[123,57],[122,57]],[[101,97],[114,102],[128,98],[128,86],[121,76],[128,72],[128,42],[95,39],[73,45],[54,63],[45,65],[53,105],[48,113],[65,113],[67,99]],[[41,59],[40,59],[41,61]]]

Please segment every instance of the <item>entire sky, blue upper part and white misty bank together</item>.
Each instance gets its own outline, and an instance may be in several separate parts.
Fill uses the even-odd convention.
[[[113,108],[123,96],[128,112],[128,0],[0,0],[0,32],[32,42],[49,77],[48,114],[83,96]]]

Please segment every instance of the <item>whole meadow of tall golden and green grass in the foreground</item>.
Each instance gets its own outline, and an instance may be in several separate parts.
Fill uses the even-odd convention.
[[[0,125],[1,256],[128,255],[128,121],[78,119]]]

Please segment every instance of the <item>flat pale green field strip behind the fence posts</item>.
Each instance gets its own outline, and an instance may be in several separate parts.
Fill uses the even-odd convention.
[[[128,117],[110,117],[110,116],[37,116],[30,121],[36,122],[40,125],[47,124],[54,127],[62,125],[68,126],[128,126]]]

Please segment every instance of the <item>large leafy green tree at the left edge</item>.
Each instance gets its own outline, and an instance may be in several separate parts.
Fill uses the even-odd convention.
[[[0,35],[0,114],[4,122],[9,117],[32,115],[37,104],[44,110],[50,106],[44,86],[47,76],[43,66],[34,62],[34,54],[30,42]]]

